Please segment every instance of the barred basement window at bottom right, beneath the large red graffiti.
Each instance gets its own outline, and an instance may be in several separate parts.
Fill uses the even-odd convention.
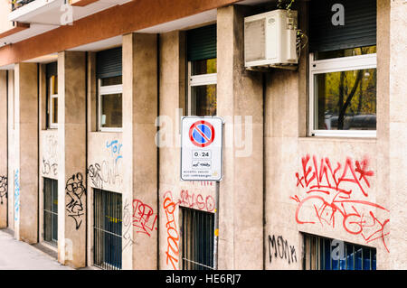
[[[376,249],[303,234],[305,270],[376,270]]]

